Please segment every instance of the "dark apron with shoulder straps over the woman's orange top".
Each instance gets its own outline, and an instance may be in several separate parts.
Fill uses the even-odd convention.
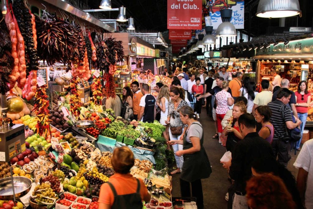
[[[114,186],[110,182],[107,182],[114,195],[114,202],[111,209],[142,209],[143,204],[140,195],[140,183],[138,179],[136,180],[138,184],[136,193],[127,195],[117,195]]]

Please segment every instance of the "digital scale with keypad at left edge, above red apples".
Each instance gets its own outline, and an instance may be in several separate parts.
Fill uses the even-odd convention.
[[[24,124],[0,128],[0,162],[8,162],[25,149]]]

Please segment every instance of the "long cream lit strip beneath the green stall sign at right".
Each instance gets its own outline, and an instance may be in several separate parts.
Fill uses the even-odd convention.
[[[256,55],[256,60],[313,60],[313,53]]]

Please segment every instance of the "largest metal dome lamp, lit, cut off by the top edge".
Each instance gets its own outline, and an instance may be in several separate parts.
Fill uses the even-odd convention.
[[[285,18],[301,15],[299,0],[260,0],[256,16],[260,18]]]

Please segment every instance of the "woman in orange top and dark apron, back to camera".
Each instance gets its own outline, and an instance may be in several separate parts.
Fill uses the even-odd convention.
[[[150,201],[151,196],[143,181],[129,173],[135,163],[132,151],[126,146],[115,148],[111,163],[115,174],[101,185],[99,208],[142,209],[142,201]]]

